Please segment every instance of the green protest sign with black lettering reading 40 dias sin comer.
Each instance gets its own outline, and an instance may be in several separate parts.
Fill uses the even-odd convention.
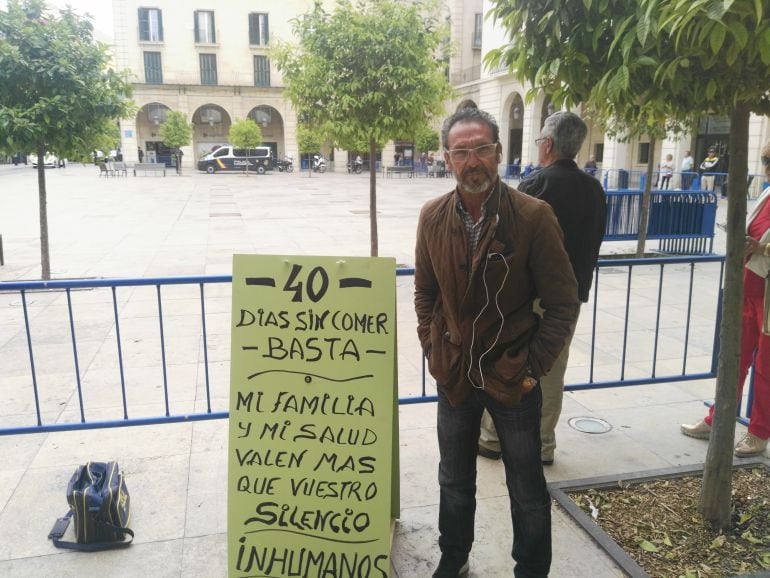
[[[231,578],[390,571],[395,262],[236,255]]]

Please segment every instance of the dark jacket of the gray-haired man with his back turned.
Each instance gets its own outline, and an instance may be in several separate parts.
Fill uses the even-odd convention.
[[[601,183],[575,161],[560,159],[519,183],[519,190],[547,202],[556,213],[578,281],[578,297],[585,303],[607,226],[607,198]]]

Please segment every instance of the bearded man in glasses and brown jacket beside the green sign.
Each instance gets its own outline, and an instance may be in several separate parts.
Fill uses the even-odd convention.
[[[423,207],[415,251],[417,333],[438,389],[441,561],[433,577],[468,573],[484,409],[500,437],[514,575],[545,577],[551,506],[538,380],[577,318],[577,282],[550,206],[500,180],[494,118],[463,102],[441,138],[457,188]]]

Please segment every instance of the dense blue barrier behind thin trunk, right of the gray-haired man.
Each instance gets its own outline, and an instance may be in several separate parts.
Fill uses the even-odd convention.
[[[607,191],[605,241],[639,236],[642,191]],[[665,253],[704,254],[714,248],[717,197],[705,191],[653,191],[647,238]]]

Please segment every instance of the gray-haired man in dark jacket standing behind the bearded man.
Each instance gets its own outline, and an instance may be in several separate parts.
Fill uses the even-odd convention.
[[[556,213],[564,232],[572,270],[578,282],[578,297],[588,301],[593,273],[599,257],[607,220],[607,200],[599,181],[575,164],[588,129],[574,113],[555,112],[543,124],[540,138],[535,139],[538,162],[543,169],[519,183],[519,190],[547,202]],[[543,309],[535,303],[535,311]],[[569,361],[569,347],[575,328],[567,340],[551,371],[540,378],[543,390],[543,409],[540,420],[540,457],[544,465],[553,464],[556,449],[556,424],[561,415],[564,395],[564,374]],[[479,454],[496,458],[500,451],[497,432],[488,415],[481,424]]]

